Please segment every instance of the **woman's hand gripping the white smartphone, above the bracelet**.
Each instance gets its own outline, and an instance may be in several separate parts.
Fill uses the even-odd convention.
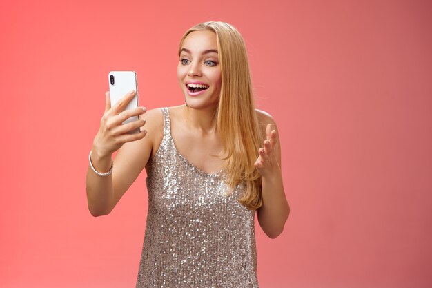
[[[137,107],[124,110],[126,105],[132,100],[135,91],[130,91],[121,98],[115,106],[111,107],[110,93],[106,92],[105,113],[101,119],[101,126],[93,142],[93,153],[97,152],[99,157],[111,156],[126,142],[132,142],[144,138],[147,131],[142,130],[136,134],[128,134],[146,124],[146,120],[138,119],[127,124],[121,124],[132,116],[139,116],[146,113],[146,108]]]

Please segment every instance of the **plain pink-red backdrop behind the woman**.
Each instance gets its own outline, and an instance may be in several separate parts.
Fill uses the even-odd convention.
[[[134,287],[145,173],[92,218],[84,177],[110,70],[181,104],[177,45],[227,21],[275,117],[291,217],[257,225],[262,287],[432,287],[430,1],[0,3],[0,287]]]

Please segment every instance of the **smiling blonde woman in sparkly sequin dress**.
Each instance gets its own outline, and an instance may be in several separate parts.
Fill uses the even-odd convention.
[[[190,28],[177,77],[181,106],[124,111],[135,93],[113,107],[107,93],[86,177],[90,213],[110,213],[145,168],[148,218],[137,287],[258,287],[255,211],[275,238],[289,207],[276,124],[253,106],[242,36],[222,22]],[[144,113],[146,120],[121,124]],[[126,133],[137,127],[145,130]]]

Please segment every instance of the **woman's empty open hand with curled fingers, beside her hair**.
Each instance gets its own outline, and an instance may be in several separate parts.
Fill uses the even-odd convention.
[[[266,140],[264,140],[264,146],[259,148],[259,157],[255,161],[255,167],[262,177],[272,175],[276,171],[275,169],[280,169],[274,153],[276,143],[277,133],[275,130],[272,130],[271,124],[267,124]]]

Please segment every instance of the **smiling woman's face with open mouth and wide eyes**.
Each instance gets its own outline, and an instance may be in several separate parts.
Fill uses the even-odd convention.
[[[191,32],[181,46],[177,78],[191,108],[217,106],[222,84],[214,32]]]

